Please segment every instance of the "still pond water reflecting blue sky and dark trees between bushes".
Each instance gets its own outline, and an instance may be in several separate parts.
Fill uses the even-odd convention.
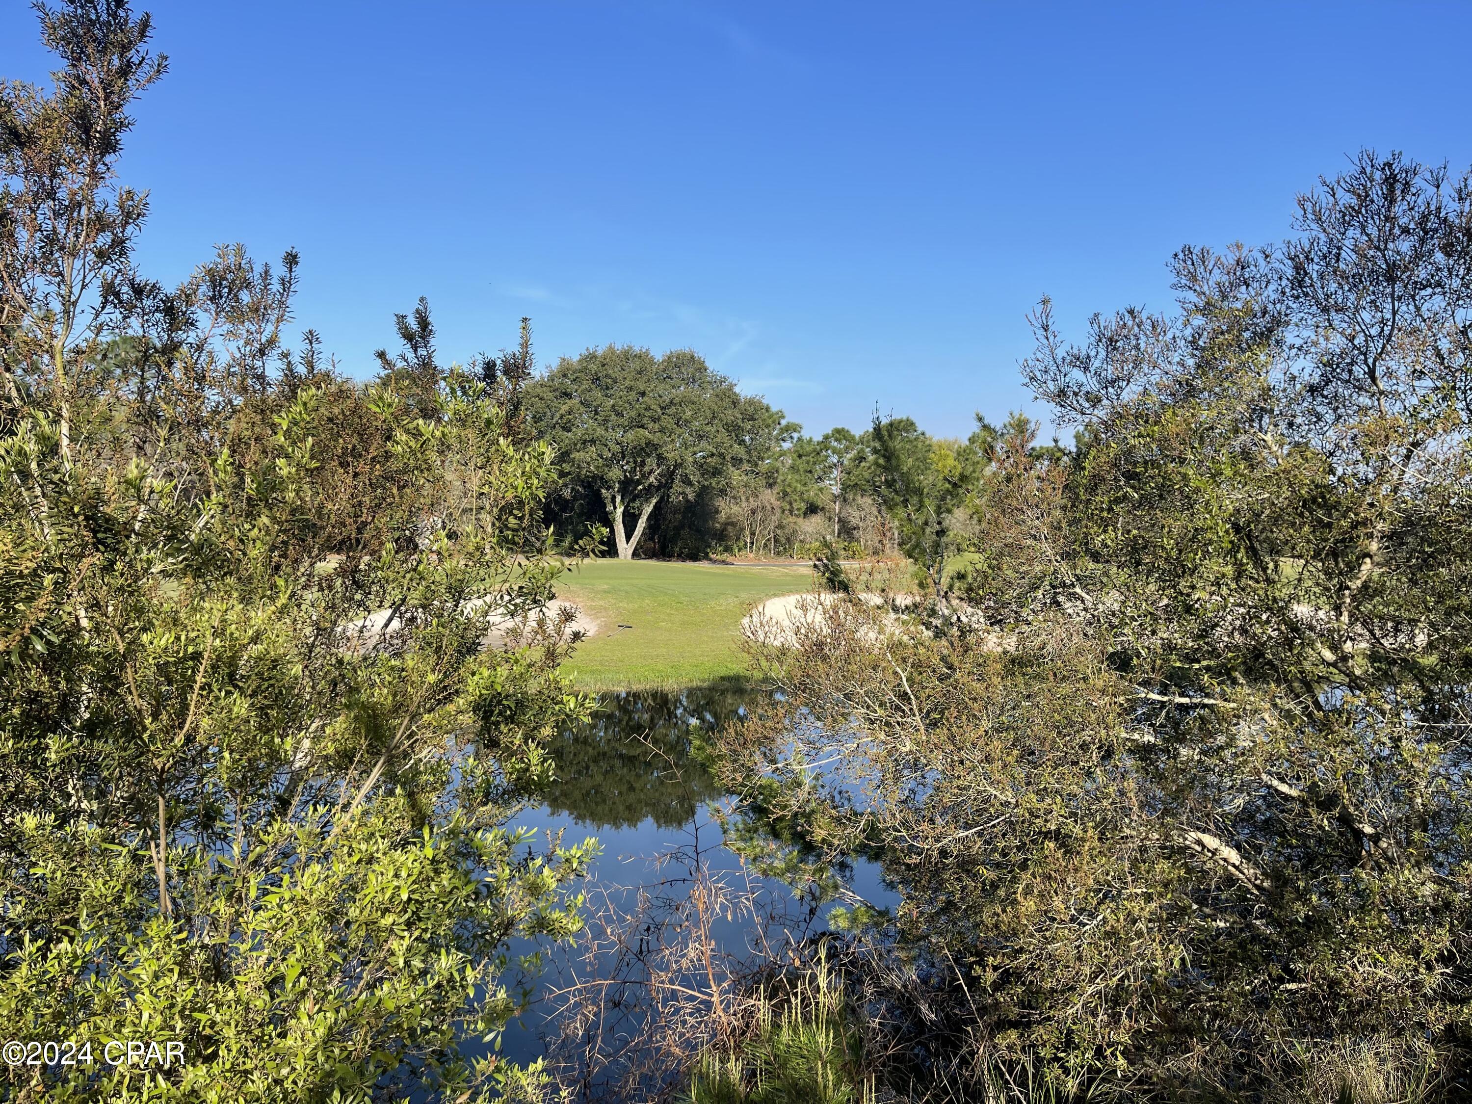
[[[542,805],[512,823],[534,829],[539,842],[548,833],[567,843],[599,841],[584,885],[590,929],[578,945],[546,955],[533,1005],[506,1029],[505,1057],[528,1063],[551,1054],[564,1076],[570,1063],[586,1076],[598,1064],[589,1048],[637,1048],[648,1017],[662,1014],[649,1011],[659,1007],[649,999],[651,979],[704,991],[714,980],[718,989],[740,963],[824,929],[827,904],[755,874],[724,845],[733,802],[702,748],[717,729],[742,723],[754,701],[751,690],[723,687],[611,693],[590,723],[558,737],[551,749],[558,780]],[[895,904],[874,864],[857,861],[845,874],[852,895],[880,908]],[[714,948],[720,969],[708,958],[692,963],[692,932]]]

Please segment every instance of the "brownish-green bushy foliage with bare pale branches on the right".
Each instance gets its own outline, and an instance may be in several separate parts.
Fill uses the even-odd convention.
[[[1298,228],[1079,347],[1045,303],[1080,449],[983,480],[964,615],[835,602],[730,740],[811,846],[885,854],[976,1045],[1067,1083],[1466,1055],[1472,181],[1366,153]]]

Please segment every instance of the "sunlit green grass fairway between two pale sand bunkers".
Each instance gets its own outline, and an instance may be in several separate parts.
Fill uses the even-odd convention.
[[[567,673],[581,690],[699,686],[745,674],[740,620],[767,598],[808,590],[813,568],[590,559],[558,598],[598,621]],[[620,624],[633,629],[618,629]]]

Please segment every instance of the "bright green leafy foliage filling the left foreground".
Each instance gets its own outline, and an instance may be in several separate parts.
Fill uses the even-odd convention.
[[[53,91],[0,94],[0,1023],[97,1061],[7,1067],[0,1095],[523,1082],[461,1045],[517,1008],[509,941],[578,926],[589,846],[505,829],[584,712],[567,640],[481,646],[561,570],[551,450],[470,374],[406,393],[311,331],[287,353],[294,253],[144,280],[115,159],[163,72],[147,18],[41,21]],[[112,1066],[115,1039],[184,1060]]]

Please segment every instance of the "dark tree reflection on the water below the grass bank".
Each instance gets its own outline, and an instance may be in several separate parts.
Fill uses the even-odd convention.
[[[724,793],[701,742],[739,718],[751,695],[723,686],[601,695],[593,718],[549,746],[556,780],[540,796],[551,811],[598,827],[687,824],[704,802]]]

